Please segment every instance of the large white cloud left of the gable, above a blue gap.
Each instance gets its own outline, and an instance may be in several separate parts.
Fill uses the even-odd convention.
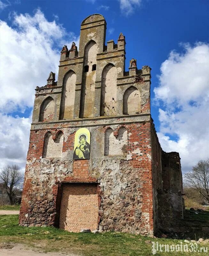
[[[77,40],[43,12],[15,15],[12,27],[0,20],[0,110],[11,112],[33,106],[36,85],[46,84],[50,71],[58,74],[60,49]],[[56,42],[56,43],[55,43]],[[23,93],[24,92],[24,93]]]

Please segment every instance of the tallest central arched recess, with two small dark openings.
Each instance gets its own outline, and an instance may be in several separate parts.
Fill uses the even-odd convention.
[[[83,61],[83,76],[80,102],[80,118],[94,116],[94,93],[96,70],[92,70],[93,65],[97,65],[97,44],[91,40],[85,46]],[[88,68],[87,68],[88,66]],[[85,67],[85,69],[84,69]],[[88,71],[87,71],[88,70]]]

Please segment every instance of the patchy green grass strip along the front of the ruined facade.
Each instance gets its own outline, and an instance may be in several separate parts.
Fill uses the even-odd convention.
[[[49,234],[44,232],[49,231]],[[53,227],[21,227],[18,215],[0,216],[0,243],[23,243],[43,252],[65,252],[84,256],[149,256],[151,241],[160,244],[179,244],[183,240],[150,238],[117,232],[70,233]],[[206,245],[203,245],[206,246]],[[207,245],[209,247],[209,244]],[[185,252],[157,252],[156,256],[186,255]],[[206,253],[190,253],[190,256]]]

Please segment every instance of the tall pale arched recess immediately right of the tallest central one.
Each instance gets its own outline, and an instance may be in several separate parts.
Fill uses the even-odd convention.
[[[117,97],[117,68],[109,63],[102,71],[100,116],[115,116]]]

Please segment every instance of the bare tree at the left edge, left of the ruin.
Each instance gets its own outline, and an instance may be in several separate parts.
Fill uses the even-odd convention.
[[[21,188],[23,183],[23,173],[18,165],[6,165],[0,171],[0,183],[6,189],[10,203],[14,204],[16,191]]]

